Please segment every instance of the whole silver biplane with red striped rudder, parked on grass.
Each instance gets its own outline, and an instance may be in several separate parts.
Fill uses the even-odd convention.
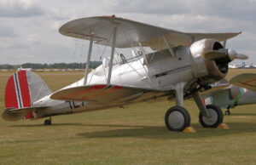
[[[4,119],[49,117],[44,124],[50,125],[50,117],[56,115],[176,100],[176,105],[166,111],[166,128],[183,131],[190,125],[183,100],[193,97],[201,125],[216,128],[223,122],[223,113],[216,105],[205,105],[200,92],[226,76],[230,61],[247,59],[247,55],[225,48],[226,41],[241,32],[181,32],[114,15],[72,20],[59,31],[90,41],[84,77],[52,92],[32,71],[18,71],[6,86]],[[89,73],[94,44],[107,46],[111,52]],[[133,49],[134,56],[129,60],[115,54],[115,48],[137,51]]]

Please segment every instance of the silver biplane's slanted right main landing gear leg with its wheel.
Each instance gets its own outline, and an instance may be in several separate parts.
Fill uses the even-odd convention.
[[[199,121],[204,128],[217,128],[223,122],[223,112],[216,105],[204,105],[201,95],[196,91],[192,94],[200,110]]]

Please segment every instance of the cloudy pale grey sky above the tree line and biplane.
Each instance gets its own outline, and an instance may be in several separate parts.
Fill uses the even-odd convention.
[[[59,27],[113,14],[176,31],[241,31],[226,47],[256,65],[256,0],[0,0],[0,64],[84,62],[89,42],[62,36]],[[92,60],[102,52],[94,47]]]

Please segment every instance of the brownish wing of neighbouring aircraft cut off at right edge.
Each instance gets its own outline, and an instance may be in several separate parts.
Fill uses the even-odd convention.
[[[256,74],[243,73],[233,77],[230,83],[241,88],[247,88],[256,92]]]

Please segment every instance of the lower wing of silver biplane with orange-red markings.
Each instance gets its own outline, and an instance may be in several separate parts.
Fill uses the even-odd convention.
[[[118,85],[88,85],[66,88],[50,96],[53,100],[89,101],[97,104],[115,105],[137,100],[149,100],[167,92],[145,88],[133,88]]]

